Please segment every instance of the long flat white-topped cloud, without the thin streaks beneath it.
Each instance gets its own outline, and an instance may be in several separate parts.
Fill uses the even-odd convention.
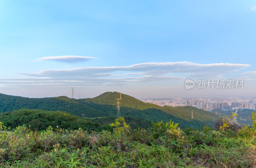
[[[220,77],[222,74],[238,71],[250,66],[249,64],[197,64],[193,62],[163,62],[163,63],[143,63],[130,66],[110,66],[110,67],[79,67],[71,69],[43,70],[38,73],[20,73],[22,75],[36,77],[68,77],[68,76],[112,76],[113,72],[123,71],[123,74],[141,75],[167,75],[170,73],[189,73],[191,75],[201,73],[205,76]]]

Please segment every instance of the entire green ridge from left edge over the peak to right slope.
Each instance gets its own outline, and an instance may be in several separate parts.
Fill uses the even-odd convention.
[[[99,118],[116,116],[116,102],[120,98],[118,92],[106,92],[94,98],[70,99],[66,96],[50,98],[25,98],[0,94],[0,112],[13,111],[21,108],[41,109],[47,111],[67,111],[80,117]],[[191,106],[170,107],[144,103],[132,96],[122,94],[120,100],[121,116],[136,117],[155,122],[174,121],[181,127],[201,127],[211,125],[218,119],[213,113]],[[192,119],[192,110],[194,119]],[[110,121],[113,122],[113,121]]]

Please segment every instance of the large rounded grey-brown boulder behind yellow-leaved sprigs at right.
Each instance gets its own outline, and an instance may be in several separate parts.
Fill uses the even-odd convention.
[[[240,128],[242,128],[243,126],[239,123],[239,122],[236,122],[234,120],[231,120],[231,119],[228,119],[228,118],[225,118],[225,121],[227,122],[227,124],[229,125],[227,129],[231,129],[232,131],[236,131]],[[220,128],[220,126],[223,126],[223,118],[220,118],[220,119],[217,119],[216,121],[214,121],[214,123],[212,124],[212,128],[214,130],[218,130]]]

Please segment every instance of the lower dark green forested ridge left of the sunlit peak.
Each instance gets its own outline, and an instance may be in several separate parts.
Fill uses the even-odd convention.
[[[47,111],[67,111],[72,114],[91,117],[94,115],[108,116],[87,105],[79,103],[76,99],[66,96],[46,97],[46,98],[27,98],[20,96],[0,94],[0,112],[13,111],[18,109],[39,109]]]

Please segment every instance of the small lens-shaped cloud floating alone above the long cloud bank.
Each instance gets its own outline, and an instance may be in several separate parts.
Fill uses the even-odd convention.
[[[89,61],[91,59],[97,59],[96,57],[83,57],[83,56],[55,56],[55,57],[42,57],[36,58],[33,61],[58,61],[58,62],[65,62],[65,63],[79,63]]]

